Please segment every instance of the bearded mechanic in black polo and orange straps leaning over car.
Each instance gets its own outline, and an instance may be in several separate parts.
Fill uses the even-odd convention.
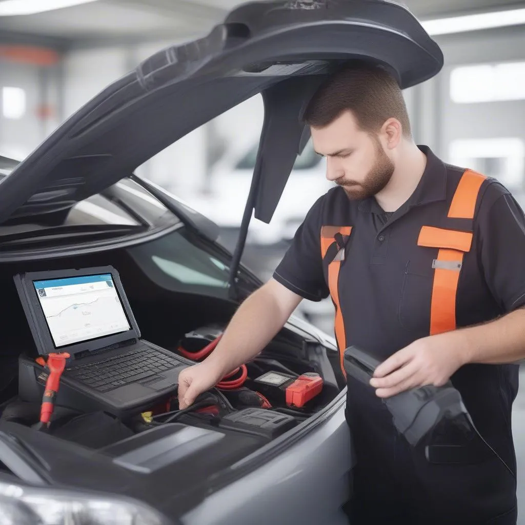
[[[336,186],[312,206],[216,351],[181,373],[181,406],[254,358],[303,298],[331,295],[341,361],[350,345],[382,361],[371,385],[348,380],[358,460],[351,522],[516,523],[516,481],[488,447],[471,443],[465,454],[430,462],[396,433],[382,398],[451,379],[515,475],[511,408],[516,362],[525,358],[521,208],[499,182],[414,143],[402,91],[382,68],[339,70],[303,119]]]

